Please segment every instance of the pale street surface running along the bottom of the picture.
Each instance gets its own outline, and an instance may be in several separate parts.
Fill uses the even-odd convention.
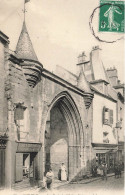
[[[99,180],[83,184],[64,184],[52,190],[30,188],[23,191],[1,191],[0,195],[124,195],[124,175],[121,178],[108,177],[107,181]]]

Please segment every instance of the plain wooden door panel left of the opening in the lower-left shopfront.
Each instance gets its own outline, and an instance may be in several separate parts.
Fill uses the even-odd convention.
[[[23,153],[16,153],[16,182],[23,180]]]

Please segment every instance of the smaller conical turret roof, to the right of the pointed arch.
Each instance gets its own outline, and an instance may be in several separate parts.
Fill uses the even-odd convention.
[[[83,68],[82,67],[81,67],[80,74],[79,74],[79,77],[78,77],[77,86],[80,89],[82,89],[83,91],[88,92],[88,93],[91,93],[91,90],[90,90],[90,87],[89,87],[89,83],[86,80],[86,77],[84,75],[84,72],[83,72]]]

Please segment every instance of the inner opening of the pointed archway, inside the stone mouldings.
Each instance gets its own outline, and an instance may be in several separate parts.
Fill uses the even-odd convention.
[[[59,105],[55,105],[48,116],[45,131],[46,139],[46,167],[47,172],[51,167],[58,178],[58,172],[62,163],[68,170],[68,126]]]

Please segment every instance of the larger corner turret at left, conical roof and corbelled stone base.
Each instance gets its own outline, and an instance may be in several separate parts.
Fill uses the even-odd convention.
[[[38,61],[33,49],[25,21],[23,22],[22,31],[16,46],[16,54],[19,59],[23,60],[21,66],[29,86],[35,87],[41,79],[43,65]]]

